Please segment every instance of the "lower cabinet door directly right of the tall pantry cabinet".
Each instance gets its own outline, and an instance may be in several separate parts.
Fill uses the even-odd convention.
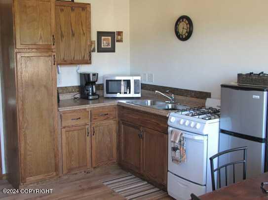
[[[89,126],[63,128],[62,133],[63,173],[91,167],[91,139]]]

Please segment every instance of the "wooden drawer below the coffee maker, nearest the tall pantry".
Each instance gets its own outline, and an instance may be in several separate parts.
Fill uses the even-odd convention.
[[[76,110],[65,112],[61,114],[62,127],[88,124],[89,123],[89,111],[88,110]]]

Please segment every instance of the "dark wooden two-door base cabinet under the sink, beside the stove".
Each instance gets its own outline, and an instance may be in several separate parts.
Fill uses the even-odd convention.
[[[167,117],[118,106],[119,165],[166,190]]]

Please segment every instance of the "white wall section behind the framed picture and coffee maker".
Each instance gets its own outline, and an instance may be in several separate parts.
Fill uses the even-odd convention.
[[[115,53],[92,53],[92,65],[82,65],[81,71],[98,72],[98,83],[105,74],[129,74],[129,0],[75,0],[91,4],[91,40],[97,31],[123,31],[123,42],[115,42]],[[96,48],[97,51],[97,48]],[[61,66],[58,86],[79,85],[77,66]]]

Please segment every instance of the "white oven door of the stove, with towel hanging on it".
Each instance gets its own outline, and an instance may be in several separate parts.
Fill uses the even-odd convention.
[[[186,162],[177,164],[171,159],[172,130],[175,128],[168,128],[168,171],[192,183],[206,185],[207,135],[183,131],[186,139]]]

